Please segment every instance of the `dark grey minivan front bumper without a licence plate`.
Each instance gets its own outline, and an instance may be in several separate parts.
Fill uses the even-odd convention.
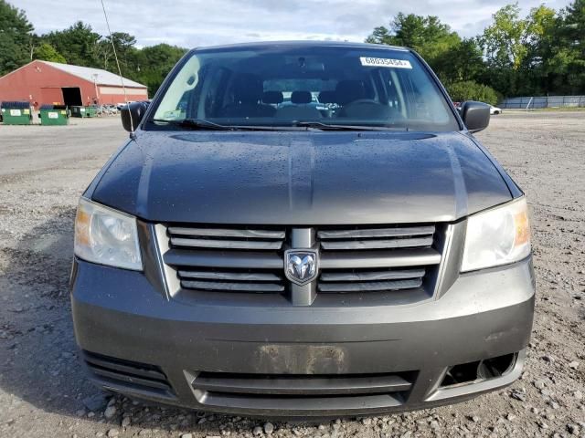
[[[388,306],[194,305],[167,299],[144,273],[79,259],[71,278],[76,338],[101,387],[263,417],[424,409],[508,385],[522,370],[534,299],[531,257]],[[499,374],[446,377],[500,357],[511,359]]]

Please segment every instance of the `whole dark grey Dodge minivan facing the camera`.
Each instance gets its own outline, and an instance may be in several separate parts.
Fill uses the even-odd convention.
[[[284,97],[289,99],[285,105]],[[321,110],[321,108],[333,110]],[[80,198],[71,302],[109,391],[303,418],[424,409],[521,374],[527,200],[413,51],[190,51]]]

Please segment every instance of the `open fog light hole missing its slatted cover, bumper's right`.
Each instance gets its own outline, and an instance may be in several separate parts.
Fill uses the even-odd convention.
[[[441,381],[441,387],[488,381],[505,376],[516,364],[517,353],[495,358],[476,360],[449,367]]]

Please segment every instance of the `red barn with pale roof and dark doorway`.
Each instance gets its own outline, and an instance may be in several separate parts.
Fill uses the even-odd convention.
[[[123,86],[126,99],[148,99],[144,85],[123,78]],[[45,103],[116,104],[126,99],[121,78],[100,68],[36,60],[0,78],[0,101],[27,100],[35,107]]]

